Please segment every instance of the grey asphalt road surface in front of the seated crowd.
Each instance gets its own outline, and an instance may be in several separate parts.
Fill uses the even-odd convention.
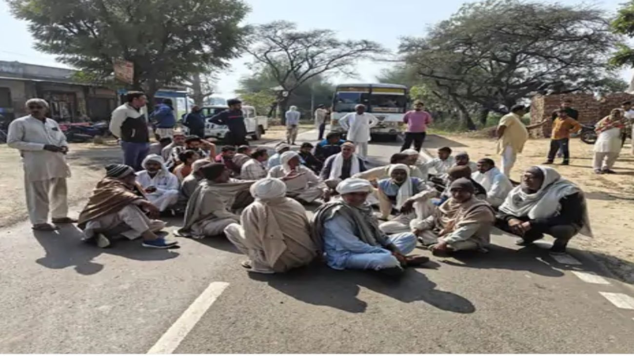
[[[431,136],[425,147],[444,144]],[[398,149],[371,144],[370,156],[385,161]],[[599,293],[634,296],[631,286],[583,251],[572,249],[567,264],[553,260],[547,243],[520,248],[495,235],[487,254],[432,257],[389,281],[323,265],[249,274],[224,239],[100,250],[80,238],[72,226],[1,229],[0,353],[634,350],[634,310],[617,307],[628,300]]]

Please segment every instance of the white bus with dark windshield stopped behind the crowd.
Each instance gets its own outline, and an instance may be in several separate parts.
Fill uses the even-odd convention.
[[[346,132],[339,125],[339,119],[354,111],[354,106],[363,104],[366,112],[378,119],[378,125],[370,132],[377,135],[396,137],[403,132],[403,115],[408,110],[408,90],[399,84],[340,84],[332,99],[330,130]]]

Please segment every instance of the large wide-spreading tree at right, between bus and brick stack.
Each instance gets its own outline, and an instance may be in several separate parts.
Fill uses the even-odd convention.
[[[469,129],[537,92],[594,91],[614,79],[607,68],[616,36],[602,11],[519,0],[467,3],[421,38],[401,42],[407,65],[450,100]]]

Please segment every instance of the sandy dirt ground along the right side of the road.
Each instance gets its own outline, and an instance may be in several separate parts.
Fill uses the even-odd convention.
[[[473,138],[468,134],[443,135],[448,145],[457,151],[467,151],[471,160],[489,157],[500,163],[496,155],[495,139]],[[524,168],[545,162],[549,147],[548,139],[531,139],[524,152],[517,156],[511,172],[511,179],[519,181]],[[581,235],[571,240],[571,245],[581,250],[589,250],[604,262],[615,274],[628,283],[634,283],[634,156],[630,153],[630,143],[626,143],[616,162],[616,175],[594,174],[592,170],[592,148],[579,139],[571,139],[569,166],[552,167],[566,179],[578,184],[588,200],[590,223],[594,238]],[[430,150],[432,155],[436,152]],[[559,163],[561,158],[556,158]]]

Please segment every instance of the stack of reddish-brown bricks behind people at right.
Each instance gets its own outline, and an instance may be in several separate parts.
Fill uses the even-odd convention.
[[[541,127],[541,130],[531,130],[533,137],[550,137],[552,124],[550,117],[553,111],[557,110],[563,99],[570,99],[571,106],[579,111],[579,122],[581,124],[594,124],[601,118],[609,115],[614,108],[620,108],[623,101],[633,101],[634,95],[625,92],[608,94],[597,100],[593,94],[554,94],[536,95],[531,99],[531,124],[541,122],[548,118],[548,124]]]

